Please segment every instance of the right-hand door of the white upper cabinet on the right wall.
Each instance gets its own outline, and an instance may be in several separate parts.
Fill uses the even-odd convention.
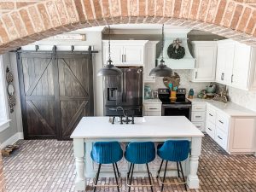
[[[248,87],[250,54],[250,46],[247,46],[246,44],[236,44],[231,83],[233,86],[244,90],[247,90]]]

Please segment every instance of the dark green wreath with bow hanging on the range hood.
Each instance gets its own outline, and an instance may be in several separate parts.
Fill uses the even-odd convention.
[[[173,41],[173,44],[170,44],[167,49],[167,55],[175,60],[182,59],[185,55],[185,49],[181,46],[182,41],[178,38]]]

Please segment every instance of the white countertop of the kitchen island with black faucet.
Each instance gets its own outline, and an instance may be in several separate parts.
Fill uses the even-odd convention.
[[[109,117],[84,117],[71,138],[166,138],[203,137],[204,134],[183,116],[145,116],[135,124],[111,124]]]

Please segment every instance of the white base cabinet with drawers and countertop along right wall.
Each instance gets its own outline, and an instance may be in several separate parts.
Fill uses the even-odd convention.
[[[256,112],[233,102],[190,101],[192,106],[207,105],[205,130],[220,147],[229,154],[256,155]]]

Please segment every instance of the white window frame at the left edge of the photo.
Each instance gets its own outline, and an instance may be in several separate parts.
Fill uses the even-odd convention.
[[[2,83],[1,83],[2,81]],[[0,90],[3,89],[3,105],[5,108],[5,120],[0,122],[0,132],[6,130],[9,128],[9,105],[8,105],[8,99],[7,99],[7,87],[5,82],[5,70],[4,70],[4,64],[3,64],[3,55],[0,55]]]

